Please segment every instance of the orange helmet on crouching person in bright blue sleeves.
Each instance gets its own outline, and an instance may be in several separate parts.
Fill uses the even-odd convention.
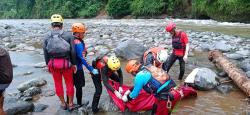
[[[125,69],[128,73],[136,72],[139,70],[141,64],[137,60],[130,60]]]

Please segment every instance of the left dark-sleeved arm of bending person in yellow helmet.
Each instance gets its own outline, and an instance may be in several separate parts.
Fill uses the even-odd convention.
[[[101,69],[101,76],[102,76],[103,84],[107,89],[111,90],[112,92],[115,92],[115,89],[108,83],[109,78],[107,74],[108,74],[108,67],[104,66]]]

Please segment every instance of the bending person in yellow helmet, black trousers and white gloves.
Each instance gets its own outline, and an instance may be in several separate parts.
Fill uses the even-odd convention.
[[[122,85],[123,85],[123,75],[121,70],[120,60],[116,56],[99,56],[93,62],[92,66],[98,69],[99,73],[97,76],[92,76],[94,85],[95,85],[95,94],[93,96],[92,102],[92,111],[94,113],[98,112],[98,103],[102,94],[102,84],[103,81],[104,86],[107,90],[111,90],[118,98],[122,98]],[[109,79],[119,82],[120,87],[115,90],[110,84]]]

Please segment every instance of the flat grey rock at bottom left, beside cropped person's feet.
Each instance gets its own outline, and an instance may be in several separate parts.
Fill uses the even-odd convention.
[[[34,104],[15,98],[6,98],[4,100],[4,108],[7,115],[25,114],[33,111]]]

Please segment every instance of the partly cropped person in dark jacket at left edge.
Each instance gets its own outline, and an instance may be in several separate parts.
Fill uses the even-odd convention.
[[[13,79],[13,69],[8,51],[0,47],[0,115],[6,115],[3,110],[4,91]]]

